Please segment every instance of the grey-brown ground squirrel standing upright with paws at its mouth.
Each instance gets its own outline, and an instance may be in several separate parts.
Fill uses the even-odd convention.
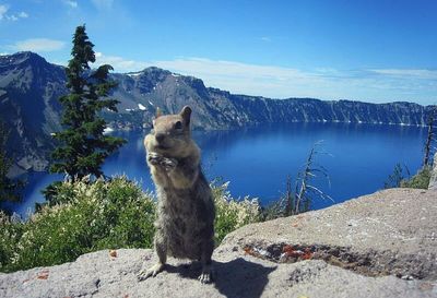
[[[200,168],[200,150],[191,139],[191,109],[156,115],[144,139],[146,160],[158,199],[154,239],[158,262],[143,269],[140,279],[155,276],[167,255],[202,263],[199,281],[212,281],[215,210],[211,188]]]

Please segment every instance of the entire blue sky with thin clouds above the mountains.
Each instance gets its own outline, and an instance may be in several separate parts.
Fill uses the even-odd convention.
[[[274,98],[437,104],[437,1],[0,0],[0,52],[70,59],[85,23],[98,63],[157,65]]]

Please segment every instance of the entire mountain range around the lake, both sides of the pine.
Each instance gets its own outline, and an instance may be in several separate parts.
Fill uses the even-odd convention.
[[[430,106],[412,103],[369,104],[315,98],[272,99],[206,87],[202,80],[158,68],[113,73],[111,96],[119,112],[104,111],[115,130],[147,129],[160,107],[165,114],[182,106],[193,109],[192,127],[237,129],[284,122],[350,122],[425,126]],[[68,93],[64,68],[24,51],[0,56],[0,117],[10,130],[8,150],[15,159],[13,175],[45,170],[54,146],[50,133],[61,129],[58,98]]]

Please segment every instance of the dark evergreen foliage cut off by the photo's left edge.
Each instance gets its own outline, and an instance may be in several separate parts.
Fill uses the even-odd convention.
[[[0,121],[0,203],[3,201],[20,201],[24,182],[8,177],[13,159],[8,156],[7,142],[9,131]]]

